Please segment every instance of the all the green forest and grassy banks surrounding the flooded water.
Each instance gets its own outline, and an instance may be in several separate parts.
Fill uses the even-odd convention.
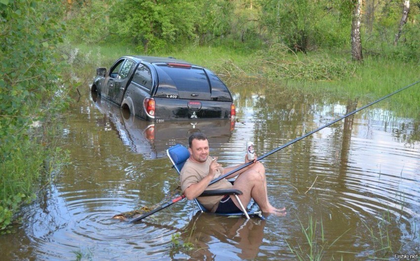
[[[0,232],[68,162],[54,137],[96,67],[175,56],[372,101],[418,80],[419,19],[420,0],[0,0]],[[419,120],[418,91],[394,103]]]

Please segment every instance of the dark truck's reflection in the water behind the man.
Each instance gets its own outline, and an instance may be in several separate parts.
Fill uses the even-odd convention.
[[[166,149],[178,143],[188,146],[188,137],[195,132],[205,133],[211,140],[212,148],[220,147],[229,142],[235,129],[235,121],[229,119],[145,121],[96,93],[91,95],[96,108],[104,114],[97,123],[116,131],[124,145],[146,159],[166,157]]]

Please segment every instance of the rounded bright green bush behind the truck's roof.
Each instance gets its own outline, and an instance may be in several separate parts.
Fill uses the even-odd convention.
[[[147,52],[167,47],[176,38],[194,37],[194,19],[199,13],[194,2],[166,0],[124,0],[110,16],[111,28],[124,38],[131,38]],[[117,7],[116,6],[116,7]],[[133,34],[133,32],[136,32]]]

